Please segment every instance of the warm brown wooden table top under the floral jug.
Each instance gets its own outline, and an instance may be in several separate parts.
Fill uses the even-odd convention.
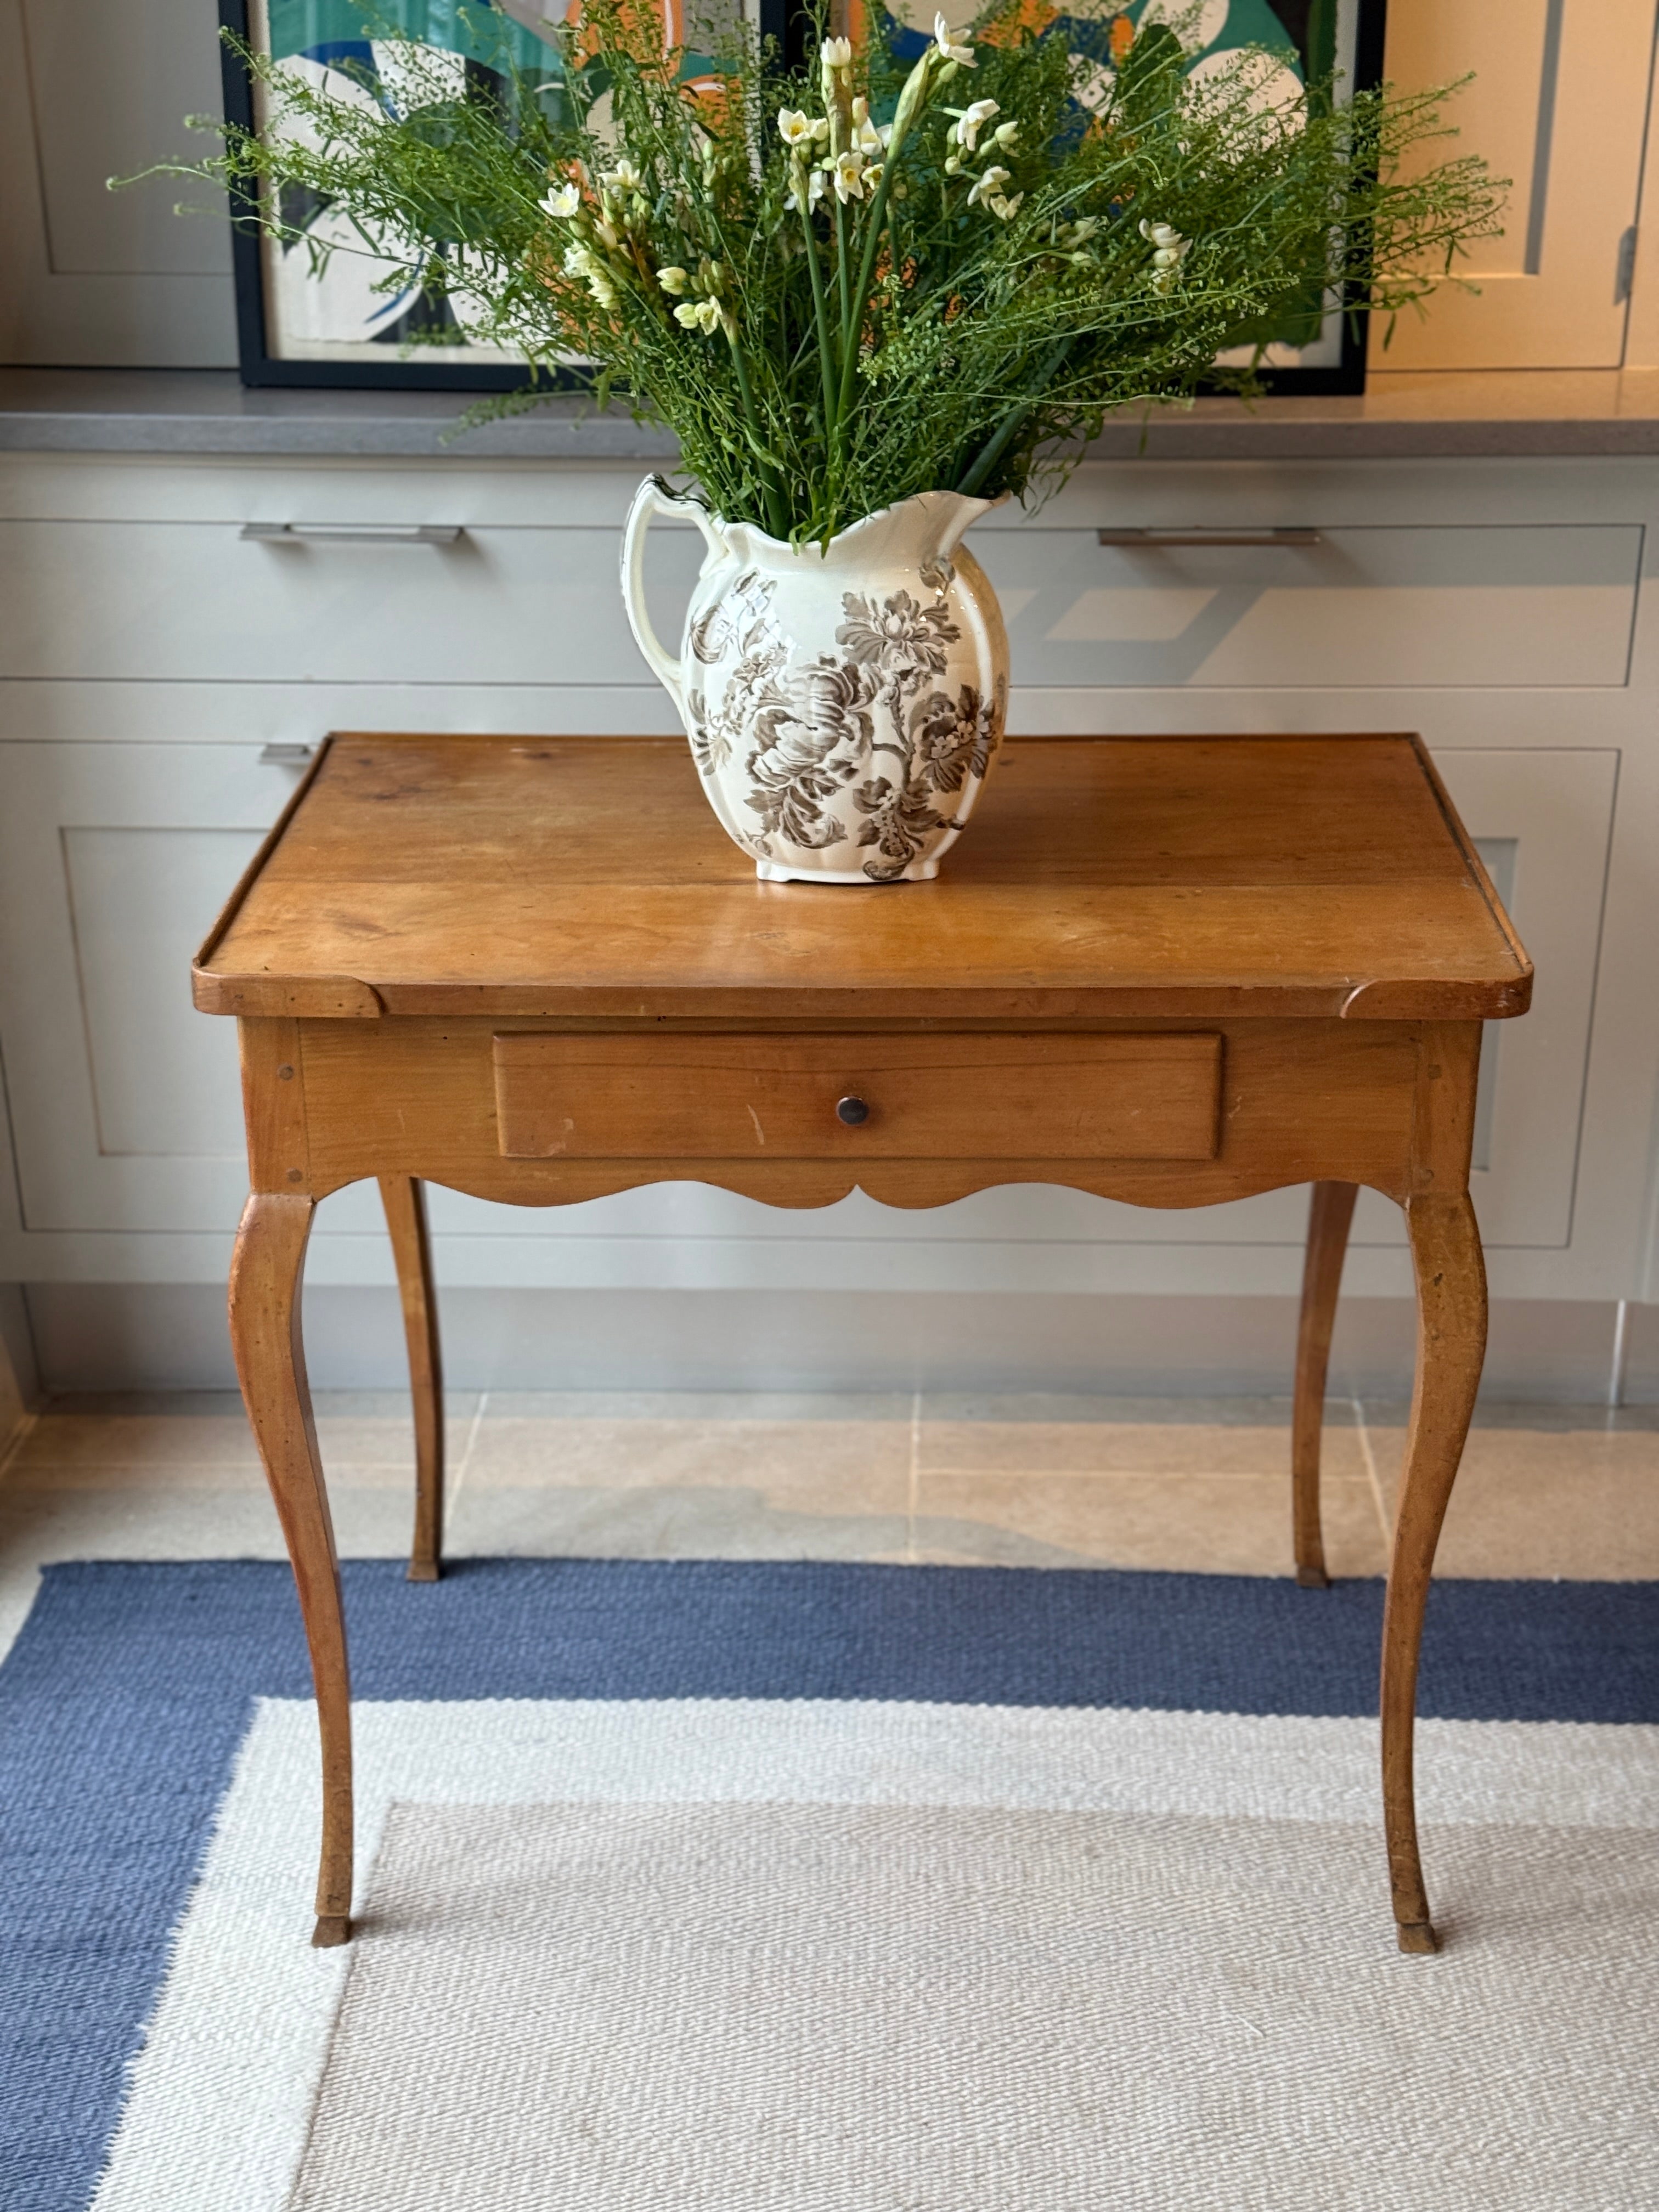
[[[684,739],[338,734],[197,956],[208,1013],[1524,1013],[1416,737],[1013,739],[936,883],[759,883]]]

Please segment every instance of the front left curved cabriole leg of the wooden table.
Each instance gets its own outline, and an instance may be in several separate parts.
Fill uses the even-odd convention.
[[[230,1261],[230,1343],[312,1652],[323,1739],[323,1856],[312,1942],[336,1944],[352,1936],[352,1679],[334,1522],[299,1329],[299,1285],[314,1212],[316,1201],[301,1192],[257,1190],[248,1199]]]

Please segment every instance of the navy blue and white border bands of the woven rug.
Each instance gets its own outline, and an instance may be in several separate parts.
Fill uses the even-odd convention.
[[[995,1805],[1004,1814],[1042,1805],[1099,1818],[1130,1805],[1164,1820],[1232,1807],[1250,1818],[1376,1820],[1374,1730],[1356,1725],[1376,1712],[1383,1593],[1371,1582],[1303,1593],[1287,1582],[1210,1575],[458,1562],[440,1584],[411,1586],[394,1562],[354,1562],[345,1588],[367,1761],[369,1767],[383,1761],[392,1809],[411,1796],[456,1803],[458,1792],[467,1794],[456,1776],[465,1781],[469,1761],[493,1761],[480,1785],[487,1805],[564,1794],[588,1805],[637,1801],[650,1785],[664,1798],[699,1803],[856,1798]],[[1555,1763],[1566,1776],[1566,1812],[1553,1816],[1568,1827],[1575,1818],[1586,1834],[1597,1825],[1621,1834],[1646,1825],[1644,1792],[1652,1787],[1659,1743],[1650,1734],[1659,1723],[1657,1630],[1652,1584],[1436,1586],[1420,1712],[1442,1723],[1502,1728],[1425,1732],[1431,1893],[1433,1767],[1442,1743],[1449,1776],[1442,1818],[1495,1818],[1495,1801],[1482,1796],[1489,1785],[1475,1776],[1480,1761],[1486,1761],[1480,1774],[1502,1770],[1509,1776],[1502,1787],[1517,1792],[1520,1812],[1511,1807],[1506,1816],[1526,1818],[1526,1792],[1548,1794]],[[279,2212],[290,2201],[330,2201],[327,2174],[319,2179],[310,2166],[301,2172],[299,2161],[316,2157],[314,2146],[305,2148],[310,2115],[349,1953],[336,1960],[305,1951],[314,1832],[307,1694],[292,1582],[281,1566],[46,1571],[29,1624],[0,1668],[0,2079],[7,2084],[0,2203],[7,2212],[82,2212],[93,2201],[100,2212],[148,2212],[148,2205],[184,2212],[215,2201],[226,2212],[254,2203]],[[416,1708],[431,1712],[422,1717]],[[1225,1725],[1212,1717],[1228,1717]],[[617,1750],[615,1730],[624,1723],[633,1734]],[[1285,1725],[1241,1734],[1245,1723]],[[701,1765],[686,1763],[692,1739]],[[1265,1774],[1274,1761],[1283,1767],[1283,1781],[1272,1785],[1279,1796],[1256,1801],[1252,1763]],[[1327,1761],[1336,1781],[1321,1778]],[[847,1781],[860,1763],[860,1772],[880,1770],[887,1778]],[[535,1792],[524,1781],[531,1770],[540,1774]],[[613,1770],[624,1774],[613,1790],[606,1781]],[[1124,1796],[1128,1783],[1110,1778],[1130,1770],[1139,1796]],[[1327,1803],[1321,1790],[1336,1794]],[[1458,1790],[1471,1792],[1462,1809]],[[237,1818],[263,1827],[257,1836],[248,1827],[239,1840]],[[369,1805],[367,1829],[380,1818]],[[230,2011],[217,2024],[217,1997],[204,1997],[226,1982],[226,1960],[237,1951],[232,1942],[230,1951],[212,1953],[217,1966],[201,1964],[208,1918],[232,1909],[223,1900],[234,1889],[234,1869],[221,1878],[208,1865],[204,1880],[210,1851],[221,1854],[226,1869],[241,1851],[243,1871],[265,1851],[270,1902],[254,1909],[246,1905],[254,1891],[237,1891],[243,1896],[237,1911],[270,1920],[257,1929],[248,1922],[246,1955],[270,1958],[288,1973],[281,1962],[292,1953],[292,1971],[312,1978],[294,1984],[292,2011],[296,2022],[305,2020],[290,2042],[281,2026],[290,2000],[281,2006],[268,1993],[259,2000],[265,2006],[259,2033],[274,2037],[261,2046],[261,2068],[276,2075],[288,2068],[292,2081],[283,2088],[288,2117],[259,2106],[265,2117],[252,2137],[263,2146],[270,2119],[270,2143],[259,2150],[268,2163],[241,2177],[230,2146],[248,2143],[254,2106],[232,2106],[237,2097],[274,2104],[281,2097],[270,2084],[250,2088],[228,2059],[223,2079],[210,2066],[208,2075],[199,2070],[208,2046],[228,2048],[239,2033]],[[372,1847],[365,1856],[372,1858]],[[1371,1893],[1358,1900],[1358,1911],[1380,1955],[1387,1944],[1380,1845],[1374,1858]],[[1500,1876],[1493,1882],[1502,1889]],[[1500,1893],[1489,1911],[1502,1911]],[[195,1933],[192,1913],[201,1920]],[[1389,1958],[1387,1971],[1444,1975],[1458,1971],[1455,1962],[1453,1942],[1427,1969],[1409,1960],[1396,1969]],[[234,1971],[228,1980],[234,1982]],[[179,2057],[181,2037],[195,2039],[195,2075]],[[246,2073],[254,2070],[250,2062]],[[186,2157],[186,2146],[166,2137],[166,2115],[177,2110],[181,2084],[208,2077],[219,2086],[199,2097],[192,2126],[199,2141]],[[1655,2201],[1646,2190],[1659,2188],[1659,2163],[1644,2168],[1628,2128],[1617,2157],[1624,2174],[1617,2190],[1641,2194],[1606,2194],[1595,2183],[1601,2194],[1584,2201]],[[1540,2172],[1548,2174],[1548,2163]],[[1057,2197],[1037,2192],[1031,2201],[1071,2203],[1066,2188],[1057,2188]],[[392,2194],[376,2190],[378,2183],[352,2181],[338,2203],[398,2203],[411,2212],[449,2203],[422,2197],[414,2179],[396,2183]],[[500,2197],[509,2201],[520,2199]],[[602,2205],[602,2197],[586,2199],[580,2190],[568,2201],[593,2201],[595,2212]],[[635,2201],[659,2199],[619,2188],[606,2212]],[[661,2201],[668,2212],[668,2199]],[[703,2199],[688,2185],[684,2201]],[[779,2190],[774,2201],[796,2197]],[[1004,2201],[1013,2205],[1018,2197]],[[1104,2185],[1075,2199],[1077,2212],[1119,2201],[1135,2199]],[[1301,2197],[1279,2201],[1301,2203]],[[1416,2203],[1409,2192],[1396,2201]],[[1486,2199],[1453,2190],[1438,2201]],[[1511,2192],[1491,2201],[1533,2199]]]

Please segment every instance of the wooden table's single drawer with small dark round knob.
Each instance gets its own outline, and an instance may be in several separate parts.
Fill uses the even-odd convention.
[[[507,1159],[1214,1159],[1219,1106],[1212,1033],[495,1037]]]

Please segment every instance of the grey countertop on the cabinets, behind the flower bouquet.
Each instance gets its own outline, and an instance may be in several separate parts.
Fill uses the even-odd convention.
[[[0,449],[288,458],[672,460],[664,429],[557,398],[456,431],[451,392],[246,389],[232,369],[0,369]],[[1108,422],[1099,460],[1420,460],[1659,453],[1659,369],[1389,372],[1358,398]]]

